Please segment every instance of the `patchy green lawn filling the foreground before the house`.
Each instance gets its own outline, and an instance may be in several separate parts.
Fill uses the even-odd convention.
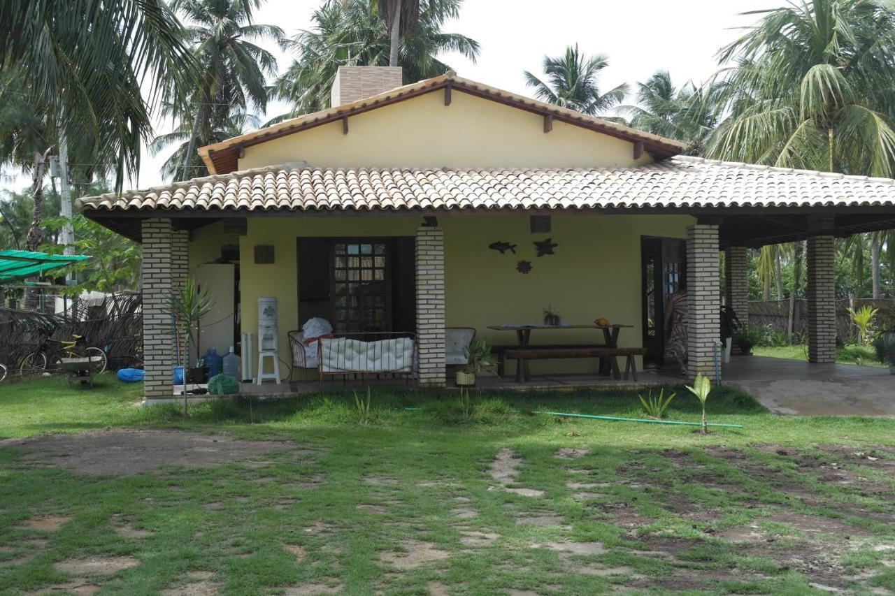
[[[708,436],[531,413],[640,416],[626,392],[473,396],[465,416],[453,392],[380,389],[369,421],[349,394],[184,420],[140,389],[0,386],[0,592],[895,590],[892,420],[774,416],[727,388],[710,421],[744,428]],[[670,418],[698,421],[695,397]]]

